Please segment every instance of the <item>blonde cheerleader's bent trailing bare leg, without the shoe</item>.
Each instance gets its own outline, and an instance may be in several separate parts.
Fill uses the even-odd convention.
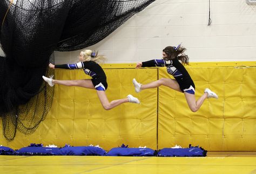
[[[129,102],[128,98],[125,99],[118,99],[118,100],[113,100],[111,102],[109,102],[109,100],[107,99],[106,93],[105,91],[97,91],[100,103],[102,103],[102,106],[104,109],[106,110],[110,110],[118,105],[121,105],[122,103],[127,103]]]

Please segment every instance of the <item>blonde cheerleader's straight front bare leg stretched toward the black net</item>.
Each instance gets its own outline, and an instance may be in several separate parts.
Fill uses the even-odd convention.
[[[52,83],[64,86],[79,86],[84,88],[95,89],[91,79],[83,79],[83,80],[55,80],[52,79]]]

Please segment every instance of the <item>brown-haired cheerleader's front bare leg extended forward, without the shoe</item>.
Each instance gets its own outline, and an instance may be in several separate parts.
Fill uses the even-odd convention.
[[[147,83],[145,85],[142,85],[140,87],[140,90],[143,90],[143,89],[149,89],[149,88],[156,88],[156,87],[159,87],[161,85],[164,85],[164,86],[167,86],[169,88],[172,88],[178,92],[181,92],[180,88],[179,88],[179,83],[174,80],[174,79],[166,79],[166,78],[161,78],[157,81],[152,81],[150,83]]]

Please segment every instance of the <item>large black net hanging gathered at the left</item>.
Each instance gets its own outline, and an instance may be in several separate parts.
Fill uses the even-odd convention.
[[[4,137],[31,134],[49,112],[53,88],[42,75],[53,51],[98,43],[154,0],[1,0],[0,116]]]

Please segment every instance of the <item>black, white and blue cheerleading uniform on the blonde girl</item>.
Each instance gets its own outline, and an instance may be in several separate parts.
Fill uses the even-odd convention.
[[[92,77],[92,84],[98,91],[107,89],[106,74],[102,67],[94,61],[81,61],[76,64],[55,65],[55,68],[62,69],[82,69],[84,73]]]

